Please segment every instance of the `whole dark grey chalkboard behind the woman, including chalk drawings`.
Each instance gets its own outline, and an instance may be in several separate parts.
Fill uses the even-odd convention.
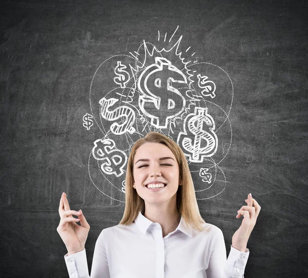
[[[3,277],[68,277],[56,232],[62,192],[91,226],[90,271],[98,235],[123,215],[129,145],[156,128],[190,146],[201,215],[222,229],[227,254],[247,194],[262,207],[245,277],[308,274],[305,1],[0,5]],[[159,115],[144,82],[155,69],[149,90],[166,86],[167,72],[180,91],[161,95]],[[203,153],[188,140],[196,115],[211,135]],[[116,171],[101,167],[113,143]]]

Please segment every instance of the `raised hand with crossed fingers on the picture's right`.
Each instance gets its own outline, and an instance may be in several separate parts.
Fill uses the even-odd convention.
[[[260,205],[251,194],[248,195],[248,199],[245,202],[247,206],[241,207],[236,216],[236,218],[240,218],[242,215],[244,216],[242,224],[232,237],[232,247],[241,252],[246,252],[249,236],[256,225],[257,217],[261,210]]]

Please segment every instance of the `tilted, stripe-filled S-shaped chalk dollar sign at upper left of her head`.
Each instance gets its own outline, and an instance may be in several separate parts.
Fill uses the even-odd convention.
[[[102,106],[101,115],[107,121],[114,121],[119,118],[125,117],[125,121],[123,121],[123,123],[111,124],[110,131],[113,134],[117,134],[117,135],[124,134],[125,132],[129,132],[130,134],[133,134],[136,131],[136,129],[132,127],[135,121],[135,118],[136,118],[134,110],[125,105],[119,106],[113,110],[109,110],[109,108],[117,101],[118,99],[102,98],[99,101]]]

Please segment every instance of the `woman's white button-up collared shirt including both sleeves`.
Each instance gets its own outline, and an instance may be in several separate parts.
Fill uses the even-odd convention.
[[[222,231],[186,225],[165,237],[159,223],[140,212],[134,223],[103,229],[94,248],[91,276],[85,249],[65,255],[70,278],[231,278],[244,277],[249,250],[231,246],[228,258]]]

